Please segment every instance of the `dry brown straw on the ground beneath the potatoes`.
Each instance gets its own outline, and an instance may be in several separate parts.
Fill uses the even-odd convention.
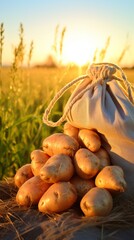
[[[84,217],[77,204],[67,212],[45,215],[37,207],[19,207],[15,202],[17,189],[13,181],[0,182],[0,239],[75,239],[77,232],[97,229],[98,239],[112,239],[117,230],[127,230],[134,226],[134,201],[116,198],[113,211],[106,217]],[[95,230],[96,231],[96,230]]]

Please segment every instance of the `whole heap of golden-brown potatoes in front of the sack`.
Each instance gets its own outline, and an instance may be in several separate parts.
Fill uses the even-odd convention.
[[[63,133],[50,135],[42,150],[31,152],[31,163],[18,169],[14,182],[19,205],[59,213],[78,201],[85,216],[108,215],[113,194],[126,189],[123,170],[110,164],[99,134],[68,122]]]

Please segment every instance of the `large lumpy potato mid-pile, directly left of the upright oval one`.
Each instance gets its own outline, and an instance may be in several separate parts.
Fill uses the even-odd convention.
[[[48,183],[69,181],[73,174],[72,159],[65,154],[56,154],[50,157],[40,169],[40,178]]]

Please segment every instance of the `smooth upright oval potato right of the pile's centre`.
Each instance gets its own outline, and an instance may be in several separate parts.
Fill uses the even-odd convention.
[[[80,148],[75,154],[74,166],[81,178],[90,179],[98,173],[100,160],[90,150]]]

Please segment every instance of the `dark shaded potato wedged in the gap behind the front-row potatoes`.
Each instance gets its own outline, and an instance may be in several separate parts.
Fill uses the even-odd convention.
[[[80,200],[91,188],[95,187],[93,179],[83,179],[77,175],[73,176],[70,182],[77,190],[78,199]]]

